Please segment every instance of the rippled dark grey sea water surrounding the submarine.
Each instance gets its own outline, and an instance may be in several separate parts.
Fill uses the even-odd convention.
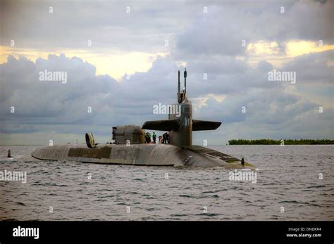
[[[0,171],[26,171],[27,183],[0,181],[0,219],[334,219],[333,146],[211,147],[256,165],[254,184],[218,168],[6,160],[8,149],[16,156],[34,148],[1,146]]]

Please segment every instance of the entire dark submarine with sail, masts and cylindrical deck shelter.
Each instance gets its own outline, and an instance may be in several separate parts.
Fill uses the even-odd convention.
[[[221,122],[193,120],[192,103],[187,99],[187,70],[183,72],[184,88],[180,90],[178,71],[177,103],[168,110],[168,120],[146,121],[142,126],[112,127],[113,143],[95,143],[91,132],[86,143],[53,145],[37,148],[31,153],[38,160],[77,161],[110,165],[146,165],[173,167],[223,167],[225,169],[255,169],[248,162],[212,150],[192,145],[192,132],[214,130]],[[175,106],[180,113],[176,114]],[[168,143],[145,143],[145,129],[168,131]]]

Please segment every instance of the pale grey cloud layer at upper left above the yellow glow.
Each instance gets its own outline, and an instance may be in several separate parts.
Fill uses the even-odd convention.
[[[189,8],[176,2],[1,1],[1,44],[14,39],[25,48],[87,49],[92,40],[93,50],[157,51],[187,25]]]

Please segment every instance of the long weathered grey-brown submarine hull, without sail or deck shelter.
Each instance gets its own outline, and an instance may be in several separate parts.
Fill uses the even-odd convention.
[[[37,148],[32,157],[39,160],[72,160],[102,164],[155,165],[174,167],[225,167],[254,169],[253,165],[230,155],[201,146],[178,147],[167,144],[98,144],[87,148],[85,144],[54,145]]]

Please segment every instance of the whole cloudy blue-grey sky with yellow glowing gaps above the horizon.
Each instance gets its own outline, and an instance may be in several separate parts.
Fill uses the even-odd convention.
[[[153,108],[184,68],[193,118],[222,122],[194,144],[334,139],[334,1],[0,0],[0,20],[0,144],[105,143],[167,119]]]

